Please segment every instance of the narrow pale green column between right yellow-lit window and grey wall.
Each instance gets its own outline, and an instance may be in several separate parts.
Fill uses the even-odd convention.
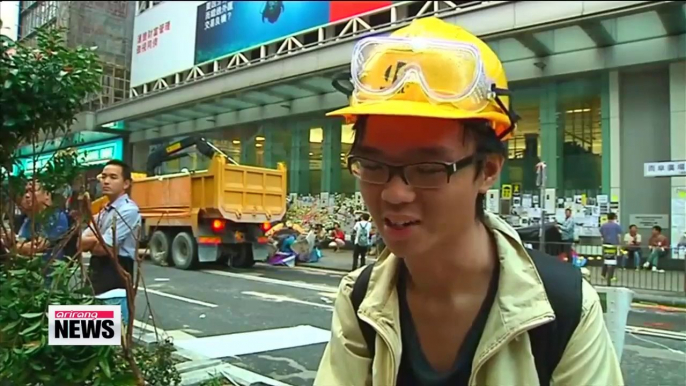
[[[619,200],[621,191],[621,140],[619,122],[619,72],[603,75],[601,89],[602,192]]]

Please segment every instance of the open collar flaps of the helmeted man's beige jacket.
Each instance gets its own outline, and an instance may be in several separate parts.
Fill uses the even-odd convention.
[[[496,300],[486,322],[482,347],[491,347],[507,334],[533,321],[554,315],[533,261],[517,232],[499,217],[486,214],[484,224],[493,232],[500,260]],[[378,258],[360,312],[399,335],[396,280],[400,259],[386,249]]]

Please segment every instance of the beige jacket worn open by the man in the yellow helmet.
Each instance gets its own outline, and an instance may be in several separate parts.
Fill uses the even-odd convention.
[[[486,226],[495,236],[502,268],[497,298],[474,356],[469,384],[538,385],[527,331],[553,319],[554,312],[516,231],[493,215],[487,215]],[[324,351],[315,386],[396,384],[402,352],[397,270],[398,258],[388,252],[382,254],[360,305],[360,318],[376,331],[376,358],[371,373],[371,359],[350,300],[360,270],[343,278],[334,307],[331,341]],[[624,384],[598,294],[586,281],[581,321],[553,373],[552,384]]]

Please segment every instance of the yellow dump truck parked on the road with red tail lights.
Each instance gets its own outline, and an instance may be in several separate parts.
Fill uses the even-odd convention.
[[[191,146],[211,157],[207,170],[155,175]],[[180,269],[215,261],[245,268],[267,258],[265,232],[286,213],[284,165],[238,165],[204,138],[189,137],[151,154],[146,174],[134,180],[131,198],[152,261]]]

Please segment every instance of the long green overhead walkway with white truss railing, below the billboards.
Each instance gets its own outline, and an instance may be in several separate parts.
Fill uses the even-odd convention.
[[[123,131],[131,142],[331,110],[346,103],[331,86],[360,36],[435,14],[484,38],[511,81],[686,59],[686,5],[674,1],[405,2],[391,22],[369,15],[194,67],[133,90],[132,97],[80,115],[73,131]],[[413,16],[407,16],[412,11]],[[327,36],[329,36],[327,38]],[[253,56],[250,58],[248,54]],[[119,129],[105,128],[117,122]]]

